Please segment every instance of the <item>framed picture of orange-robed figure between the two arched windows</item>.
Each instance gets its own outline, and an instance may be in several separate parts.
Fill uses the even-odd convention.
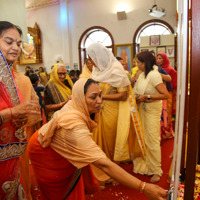
[[[115,56],[119,56],[124,60],[124,68],[131,70],[133,65],[133,45],[132,44],[117,44],[115,45]]]

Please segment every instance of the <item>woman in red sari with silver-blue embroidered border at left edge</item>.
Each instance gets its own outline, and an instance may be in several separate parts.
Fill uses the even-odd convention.
[[[25,194],[24,170],[20,169],[20,156],[27,145],[25,130],[29,138],[32,125],[41,120],[32,84],[13,64],[20,55],[21,35],[19,27],[0,21],[0,199],[15,199]],[[28,159],[24,162],[26,168]]]

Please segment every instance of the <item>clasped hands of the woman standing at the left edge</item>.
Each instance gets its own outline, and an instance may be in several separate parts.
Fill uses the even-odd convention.
[[[28,115],[41,115],[40,104],[37,100],[29,100],[11,108],[12,118],[25,122]]]

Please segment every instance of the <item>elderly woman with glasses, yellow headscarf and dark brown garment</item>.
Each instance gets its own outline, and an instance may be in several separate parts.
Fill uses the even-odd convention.
[[[44,105],[47,113],[47,121],[53,113],[61,109],[69,100],[72,93],[73,82],[67,74],[63,63],[54,65],[50,80],[44,90]]]

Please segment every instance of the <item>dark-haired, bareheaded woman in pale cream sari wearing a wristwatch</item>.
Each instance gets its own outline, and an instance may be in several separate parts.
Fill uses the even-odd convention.
[[[156,183],[160,181],[163,173],[159,135],[162,99],[167,99],[169,94],[157,67],[154,69],[156,59],[150,52],[137,54],[136,62],[142,73],[134,86],[134,93],[137,96],[136,100],[144,129],[146,158],[134,159],[133,171],[152,175],[151,182]]]

